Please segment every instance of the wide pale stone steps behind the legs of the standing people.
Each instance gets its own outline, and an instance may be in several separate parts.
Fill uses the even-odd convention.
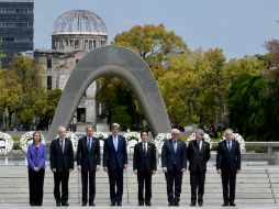
[[[25,166],[0,166],[0,206],[1,204],[29,204],[27,169]],[[70,174],[69,202],[78,206],[81,198],[80,174],[75,170]],[[54,179],[49,167],[46,169],[44,184],[44,205],[55,206],[53,196]],[[243,166],[237,175],[236,200],[237,206],[268,206],[279,201],[279,167],[278,166]],[[209,165],[204,194],[204,207],[221,206],[221,177],[215,167]],[[98,206],[109,206],[109,180],[104,172],[97,174]],[[153,206],[167,206],[166,182],[160,168],[153,177]],[[124,206],[137,205],[137,180],[131,170],[124,174]],[[190,205],[189,173],[183,176],[180,206]]]

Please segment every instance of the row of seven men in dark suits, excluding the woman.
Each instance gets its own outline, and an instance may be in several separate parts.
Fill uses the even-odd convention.
[[[118,123],[112,124],[111,131],[112,134],[104,141],[102,165],[109,175],[111,206],[122,206],[123,170],[127,168],[126,141],[119,134]],[[87,135],[79,140],[77,150],[77,168],[81,172],[82,183],[81,206],[87,206],[88,202],[89,206],[94,206],[96,172],[100,169],[101,162],[100,142],[93,138],[91,125],[87,127],[86,132]],[[197,200],[199,206],[203,206],[207,163],[210,158],[210,144],[203,140],[203,135],[202,130],[197,130],[196,140],[190,141],[187,147],[180,140],[180,131],[172,129],[171,139],[164,142],[161,166],[167,183],[168,206],[179,206],[182,176],[188,169],[191,186],[190,206],[196,206]],[[235,206],[235,183],[236,174],[241,169],[241,151],[238,142],[232,140],[232,130],[225,131],[225,141],[219,143],[216,169],[222,177],[223,206]],[[138,206],[152,206],[152,176],[157,170],[156,147],[148,142],[147,131],[141,132],[141,139],[142,142],[134,147],[133,156],[133,170],[138,183]],[[58,138],[51,144],[51,169],[54,173],[56,206],[68,206],[68,180],[69,173],[74,169],[74,151],[64,127],[58,129]]]

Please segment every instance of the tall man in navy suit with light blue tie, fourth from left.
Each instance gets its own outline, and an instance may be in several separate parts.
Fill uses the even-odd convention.
[[[122,206],[123,169],[127,168],[126,141],[119,135],[119,129],[118,123],[112,124],[112,135],[103,145],[103,170],[109,174],[111,206]]]

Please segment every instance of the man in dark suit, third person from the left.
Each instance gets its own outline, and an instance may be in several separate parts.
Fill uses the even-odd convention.
[[[100,143],[93,138],[93,128],[86,128],[87,136],[78,141],[77,167],[81,172],[82,205],[88,202],[88,176],[89,176],[89,206],[94,206],[96,172],[100,169]]]

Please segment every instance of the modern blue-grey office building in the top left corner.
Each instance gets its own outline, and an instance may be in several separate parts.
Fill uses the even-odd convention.
[[[0,42],[8,66],[20,52],[33,51],[34,0],[0,0]]]

